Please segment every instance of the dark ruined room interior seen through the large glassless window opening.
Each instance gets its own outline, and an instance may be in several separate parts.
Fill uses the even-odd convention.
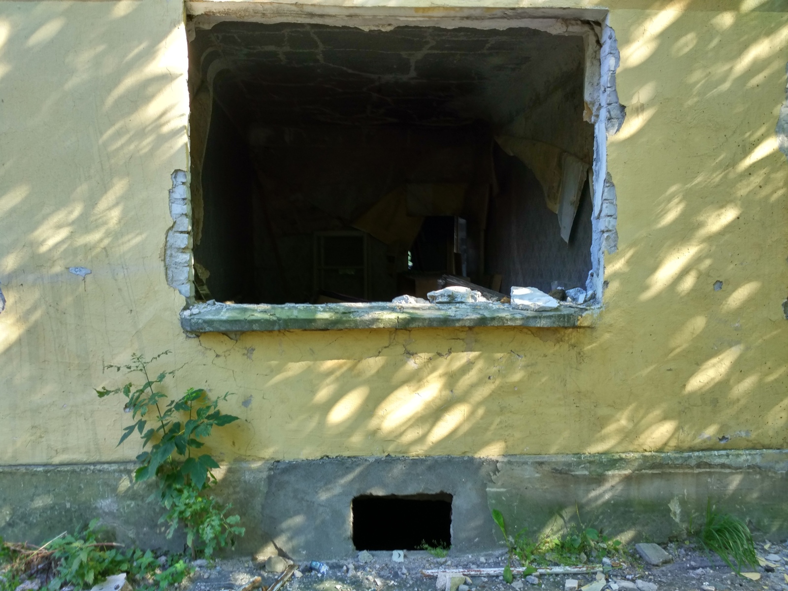
[[[500,147],[592,162],[581,37],[227,21],[189,50],[211,93],[191,118],[207,138],[191,179],[202,299],[390,301],[444,273],[504,293],[585,287],[588,184],[567,242],[544,171]]]

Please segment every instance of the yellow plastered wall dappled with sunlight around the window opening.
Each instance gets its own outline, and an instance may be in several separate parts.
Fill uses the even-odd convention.
[[[106,363],[165,350],[170,392],[236,392],[227,460],[786,447],[788,14],[605,6],[627,117],[594,328],[235,341],[187,338],[165,281],[170,174],[188,169],[183,6],[0,2],[0,463],[133,459],[121,399],[92,388],[124,380]]]

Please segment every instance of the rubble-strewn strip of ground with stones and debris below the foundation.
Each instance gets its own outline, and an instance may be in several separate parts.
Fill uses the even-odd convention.
[[[318,574],[310,562],[296,563],[303,578],[291,578],[284,585],[287,591],[517,591],[548,589],[549,591],[788,591],[786,560],[788,546],[756,545],[764,562],[774,564],[775,572],[764,566],[757,569],[760,580],[734,574],[717,556],[707,556],[692,545],[675,543],[661,547],[672,562],[656,566],[641,559],[635,547],[629,548],[610,565],[578,565],[585,572],[543,574],[522,577],[522,569],[513,569],[512,585],[504,582],[502,573],[507,559],[504,551],[478,555],[456,556],[450,552],[438,559],[424,551],[403,552],[403,562],[392,561],[392,552],[359,552],[344,560],[324,561],[328,572]],[[653,550],[653,548],[652,548]],[[768,552],[766,552],[768,550]],[[593,562],[593,557],[589,558]],[[218,568],[199,567],[190,591],[242,591],[243,585],[255,576],[263,585],[271,585],[276,574],[266,573],[263,563],[241,560],[220,560]],[[578,568],[574,567],[574,568]],[[485,573],[495,569],[501,574],[486,576],[464,572]],[[519,574],[517,571],[519,570]],[[546,569],[545,569],[546,570]],[[556,567],[556,571],[560,569]],[[202,573],[208,573],[202,578]],[[425,576],[424,572],[433,573]],[[442,573],[442,576],[437,573]]]

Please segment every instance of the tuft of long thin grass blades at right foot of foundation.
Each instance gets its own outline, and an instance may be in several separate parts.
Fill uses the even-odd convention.
[[[698,537],[707,552],[715,552],[736,574],[742,574],[744,566],[758,566],[753,534],[747,524],[738,517],[715,511],[711,499],[706,504],[706,521]]]

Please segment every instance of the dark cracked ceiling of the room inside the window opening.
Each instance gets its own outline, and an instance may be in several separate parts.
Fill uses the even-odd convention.
[[[530,28],[225,21],[197,29],[190,51],[203,72],[214,64],[214,96],[247,128],[479,119],[500,127],[556,88],[582,84],[584,67],[582,37]]]

